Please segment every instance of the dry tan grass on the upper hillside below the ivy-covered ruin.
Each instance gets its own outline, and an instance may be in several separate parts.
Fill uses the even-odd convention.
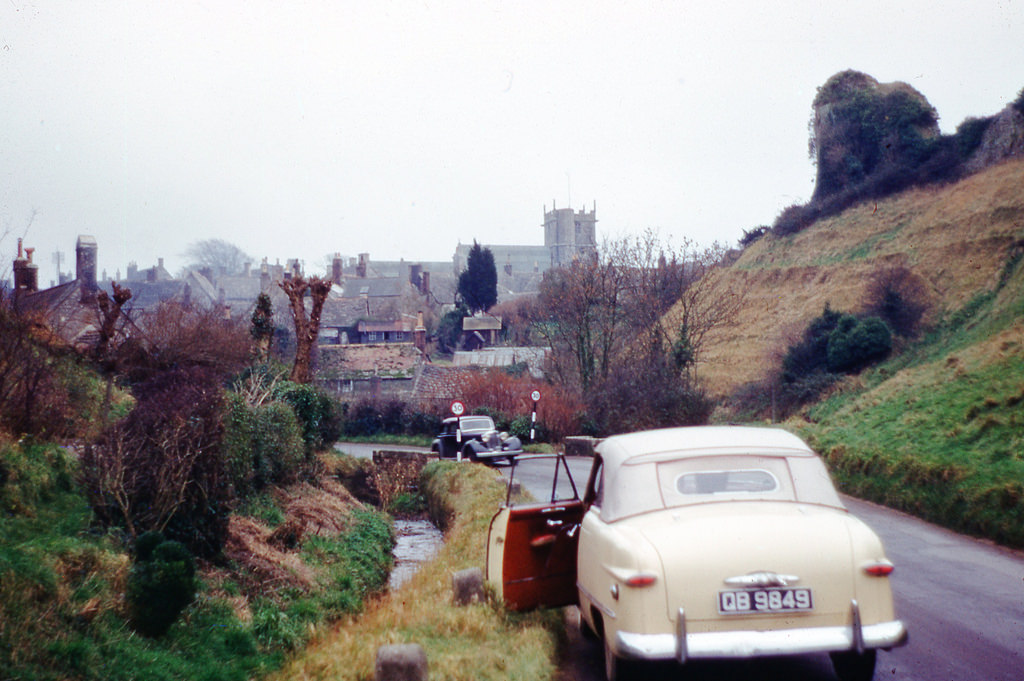
[[[891,266],[926,284],[932,318],[957,310],[995,286],[1022,244],[1024,160],[766,236],[711,274],[713,288],[745,298],[733,326],[705,338],[697,373],[719,396],[765,378],[825,303],[860,311],[871,275]]]

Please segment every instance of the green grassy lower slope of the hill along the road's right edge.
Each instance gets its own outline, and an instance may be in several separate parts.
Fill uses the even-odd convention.
[[[796,424],[846,492],[1024,547],[1019,265]]]

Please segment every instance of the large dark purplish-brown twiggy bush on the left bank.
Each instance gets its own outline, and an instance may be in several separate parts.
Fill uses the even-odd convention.
[[[216,371],[164,372],[82,456],[82,487],[105,525],[162,531],[200,556],[223,544],[230,508],[220,455],[223,391]]]

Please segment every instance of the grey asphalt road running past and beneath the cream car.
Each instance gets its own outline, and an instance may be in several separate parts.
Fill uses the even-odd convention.
[[[370,456],[380,445],[339,449]],[[355,451],[357,450],[357,451]],[[581,496],[590,459],[569,459]],[[508,467],[501,467],[506,474]],[[517,467],[516,479],[538,499],[551,494],[553,465]],[[844,502],[870,525],[896,564],[893,592],[909,643],[879,653],[876,679],[893,681],[1020,681],[1024,679],[1024,553],[943,529],[852,498]],[[560,681],[603,679],[600,646],[583,636],[578,613],[567,613],[569,645]],[[644,679],[678,679],[675,665],[651,666]],[[826,655],[687,666],[685,678],[731,681],[835,681]]]

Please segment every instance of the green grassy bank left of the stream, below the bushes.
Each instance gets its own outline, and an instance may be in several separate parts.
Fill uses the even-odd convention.
[[[301,553],[322,576],[308,591],[252,603],[240,619],[227,581],[200,594],[158,639],[135,633],[124,605],[124,538],[99,533],[55,445],[0,444],[0,679],[243,681],[280,668],[316,628],[357,611],[387,580],[390,519],[356,511],[349,531],[311,537]],[[272,500],[252,502],[272,516]]]

